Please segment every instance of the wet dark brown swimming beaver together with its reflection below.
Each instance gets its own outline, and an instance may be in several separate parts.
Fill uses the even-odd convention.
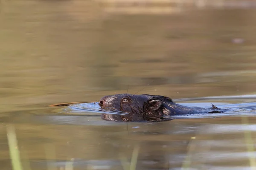
[[[185,115],[195,113],[221,113],[227,109],[220,109],[212,105],[211,108],[192,108],[178,105],[169,97],[149,94],[116,94],[104,96],[99,101],[104,110],[122,111],[126,115],[102,114],[102,119],[116,122],[160,122],[171,120],[164,116]]]

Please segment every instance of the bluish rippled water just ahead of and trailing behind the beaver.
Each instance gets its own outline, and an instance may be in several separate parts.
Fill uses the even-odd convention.
[[[198,98],[188,98],[188,99],[176,99],[175,101],[197,101],[197,100],[228,100],[228,99],[256,99],[256,95],[239,95],[239,96],[209,96],[209,97],[198,97]],[[189,114],[189,115],[177,115],[177,116],[166,116],[166,118],[175,118],[175,119],[194,119],[194,118],[215,118],[223,116],[256,116],[256,103],[236,103],[228,104],[224,102],[214,102],[214,105],[219,108],[228,108],[229,112],[226,113],[202,113],[202,114]],[[203,107],[207,108],[211,106],[210,102],[187,102],[179,103],[180,105],[185,105],[189,107]],[[76,102],[76,103],[61,103],[50,105],[54,107],[64,107],[61,109],[60,114],[73,115],[73,116],[99,116],[99,113],[107,114],[119,114],[125,115],[128,113],[118,111],[118,110],[105,110],[99,106],[99,102]]]

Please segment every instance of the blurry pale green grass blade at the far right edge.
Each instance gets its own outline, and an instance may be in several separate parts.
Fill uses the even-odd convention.
[[[249,125],[247,117],[242,117],[241,122],[243,125]],[[255,151],[253,147],[254,142],[253,142],[252,134],[250,130],[244,130],[244,140],[247,147],[247,153],[249,156],[251,170],[256,170],[256,156],[255,156]]]

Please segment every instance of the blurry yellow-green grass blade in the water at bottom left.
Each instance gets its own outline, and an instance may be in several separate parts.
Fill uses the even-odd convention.
[[[20,151],[18,148],[18,142],[15,133],[14,125],[7,125],[7,139],[9,144],[9,152],[12,160],[12,168],[13,170],[23,170],[21,161],[20,161]]]

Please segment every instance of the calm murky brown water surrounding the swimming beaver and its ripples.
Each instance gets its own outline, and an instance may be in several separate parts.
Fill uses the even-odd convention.
[[[131,158],[137,170],[256,168],[253,115],[126,124],[48,107],[134,94],[151,80],[140,93],[255,102],[237,96],[256,90],[255,1],[161,2],[0,0],[3,170],[12,127],[24,170],[122,170]]]

